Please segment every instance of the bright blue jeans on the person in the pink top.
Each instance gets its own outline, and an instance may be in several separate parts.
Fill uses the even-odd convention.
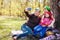
[[[45,33],[46,33],[46,29],[47,27],[43,27],[42,25],[37,25],[35,28],[34,28],[34,34],[37,35],[39,34],[41,38],[44,37]]]

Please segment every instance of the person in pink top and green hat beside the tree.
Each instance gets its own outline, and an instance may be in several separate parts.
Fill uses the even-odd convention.
[[[53,21],[54,18],[52,13],[50,12],[50,7],[46,6],[44,15],[42,16],[39,25],[34,28],[35,35],[39,33],[41,38],[44,37],[47,28],[52,25]]]

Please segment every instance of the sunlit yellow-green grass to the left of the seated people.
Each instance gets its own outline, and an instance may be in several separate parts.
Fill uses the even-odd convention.
[[[20,30],[25,20],[20,17],[0,16],[0,40],[12,40],[11,31]]]

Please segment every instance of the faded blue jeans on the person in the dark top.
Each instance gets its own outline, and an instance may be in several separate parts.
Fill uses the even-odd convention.
[[[26,24],[22,25],[21,30],[23,31],[23,34],[18,35],[17,39],[20,37],[25,37],[29,34],[32,35],[32,30]]]

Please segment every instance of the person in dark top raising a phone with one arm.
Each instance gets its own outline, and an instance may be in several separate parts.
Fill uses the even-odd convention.
[[[37,8],[34,12],[34,14],[29,14],[29,11],[31,10],[31,8],[26,8],[24,10],[24,13],[26,14],[26,16],[28,17],[28,21],[22,25],[21,30],[23,31],[23,33],[21,35],[18,35],[17,39],[21,36],[27,36],[27,35],[32,35],[32,31],[33,28],[35,26],[37,26],[40,22],[40,9]]]

